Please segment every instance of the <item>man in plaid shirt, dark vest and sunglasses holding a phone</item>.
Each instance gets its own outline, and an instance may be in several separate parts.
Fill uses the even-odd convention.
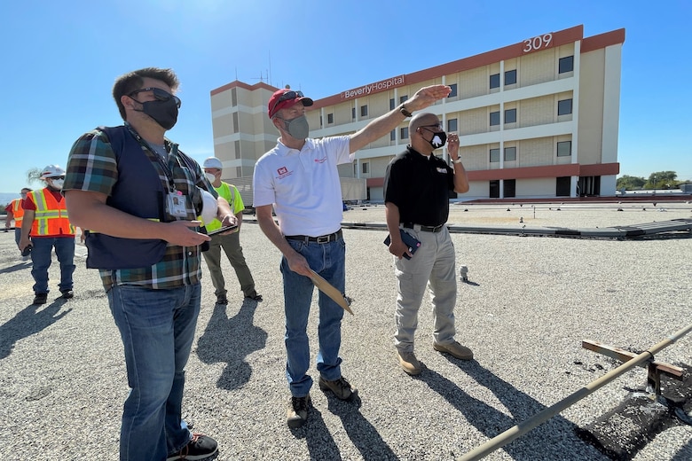
[[[164,137],[177,121],[177,86],[171,69],[119,77],[113,96],[124,126],[77,139],[63,187],[70,220],[87,230],[87,266],[99,269],[122,336],[131,391],[120,457],[129,461],[216,453],[214,439],[191,434],[181,420],[200,312],[200,246],[209,240],[196,216],[208,203],[204,195],[216,198],[216,191]],[[219,221],[236,223],[226,200],[217,198],[216,207]]]

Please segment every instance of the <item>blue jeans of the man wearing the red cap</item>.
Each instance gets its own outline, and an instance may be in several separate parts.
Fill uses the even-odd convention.
[[[342,293],[346,285],[346,245],[342,238],[325,244],[304,243],[287,240],[296,252],[303,255],[312,270],[324,277]],[[287,363],[286,378],[291,395],[303,397],[312,387],[312,379],[307,374],[310,367],[310,344],[308,342],[308,316],[314,285],[309,277],[290,270],[286,258],[281,259],[281,273],[284,278],[284,303],[286,313]],[[319,292],[319,351],[317,369],[322,378],[339,379],[342,376],[339,348],[342,344],[343,309],[325,293]]]

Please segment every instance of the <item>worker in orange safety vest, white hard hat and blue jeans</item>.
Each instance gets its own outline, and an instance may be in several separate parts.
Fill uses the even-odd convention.
[[[72,274],[75,272],[75,226],[67,219],[67,207],[62,196],[65,170],[58,165],[43,168],[41,179],[46,187],[30,191],[22,202],[24,219],[21,223],[20,250],[31,246],[31,261],[34,267],[34,304],[45,304],[48,300],[48,268],[51,267],[51,253],[60,263],[60,283],[62,298],[75,296]]]

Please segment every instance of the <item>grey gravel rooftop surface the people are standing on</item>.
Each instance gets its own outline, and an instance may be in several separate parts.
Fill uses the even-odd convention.
[[[509,211],[507,211],[509,207]],[[560,207],[560,210],[556,208]],[[617,208],[623,208],[618,212]],[[646,209],[643,209],[646,208]],[[463,211],[468,209],[468,211]],[[535,213],[535,217],[534,217]],[[685,202],[652,204],[453,205],[449,223],[608,227],[691,218]],[[353,207],[345,223],[384,223],[384,207]],[[429,299],[421,306],[420,377],[400,370],[393,347],[396,285],[386,230],[345,229],[346,294],[355,316],[342,323],[342,371],[359,405],[312,387],[309,421],[286,425],[288,389],[279,251],[252,215],[241,232],[264,301],[245,301],[231,265],[229,304],[215,306],[206,265],[197,338],[187,366],[184,413],[219,443],[218,460],[452,460],[531,418],[619,363],[581,347],[597,340],[641,352],[692,318],[692,238],[542,238],[452,234],[459,284],[457,340],[475,360],[431,347]],[[0,233],[0,459],[116,460],[127,393],[122,343],[96,270],[78,245],[75,299],[33,306],[30,264],[12,232]],[[317,354],[317,303],[309,333]],[[692,364],[692,334],[657,361]],[[575,432],[615,409],[647,373],[634,368],[545,424],[491,453],[492,460],[605,460]],[[692,459],[692,426],[673,426],[632,457]]]

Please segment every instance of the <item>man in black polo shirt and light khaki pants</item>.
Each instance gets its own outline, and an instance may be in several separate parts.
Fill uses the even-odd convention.
[[[453,168],[432,152],[444,146],[447,136],[434,113],[419,113],[409,123],[411,145],[397,155],[384,176],[389,253],[397,275],[397,333],[394,345],[399,364],[411,375],[421,373],[413,354],[418,309],[429,284],[432,291],[435,331],[433,348],[462,360],[473,353],[454,340],[454,305],[457,280],[454,245],[444,225],[449,217],[449,192],[468,191],[468,176],[459,158],[459,136],[450,133],[447,147]],[[401,238],[400,230],[421,242],[415,254]],[[402,259],[403,258],[403,259]]]

